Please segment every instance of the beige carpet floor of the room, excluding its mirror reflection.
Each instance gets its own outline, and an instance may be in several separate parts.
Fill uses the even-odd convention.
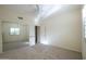
[[[1,60],[81,60],[82,54],[57,47],[36,44],[5,51]]]

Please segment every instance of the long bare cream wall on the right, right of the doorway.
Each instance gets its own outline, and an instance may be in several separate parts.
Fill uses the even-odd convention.
[[[42,21],[40,29],[41,43],[81,52],[82,10],[56,13]]]

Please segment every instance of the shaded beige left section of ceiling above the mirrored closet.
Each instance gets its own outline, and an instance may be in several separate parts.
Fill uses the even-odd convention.
[[[0,5],[7,11],[12,11],[21,14],[35,14],[36,5],[35,4],[2,4]]]

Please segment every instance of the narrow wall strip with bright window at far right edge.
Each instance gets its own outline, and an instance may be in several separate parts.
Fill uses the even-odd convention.
[[[86,38],[85,38],[85,18],[86,18],[86,5],[83,7],[83,26],[82,26],[82,55],[83,55],[83,59],[86,60]]]

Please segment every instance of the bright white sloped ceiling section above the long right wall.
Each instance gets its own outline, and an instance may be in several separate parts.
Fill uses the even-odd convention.
[[[65,13],[74,10],[81,10],[83,4],[39,4],[39,13],[36,22],[42,21],[54,13]]]

